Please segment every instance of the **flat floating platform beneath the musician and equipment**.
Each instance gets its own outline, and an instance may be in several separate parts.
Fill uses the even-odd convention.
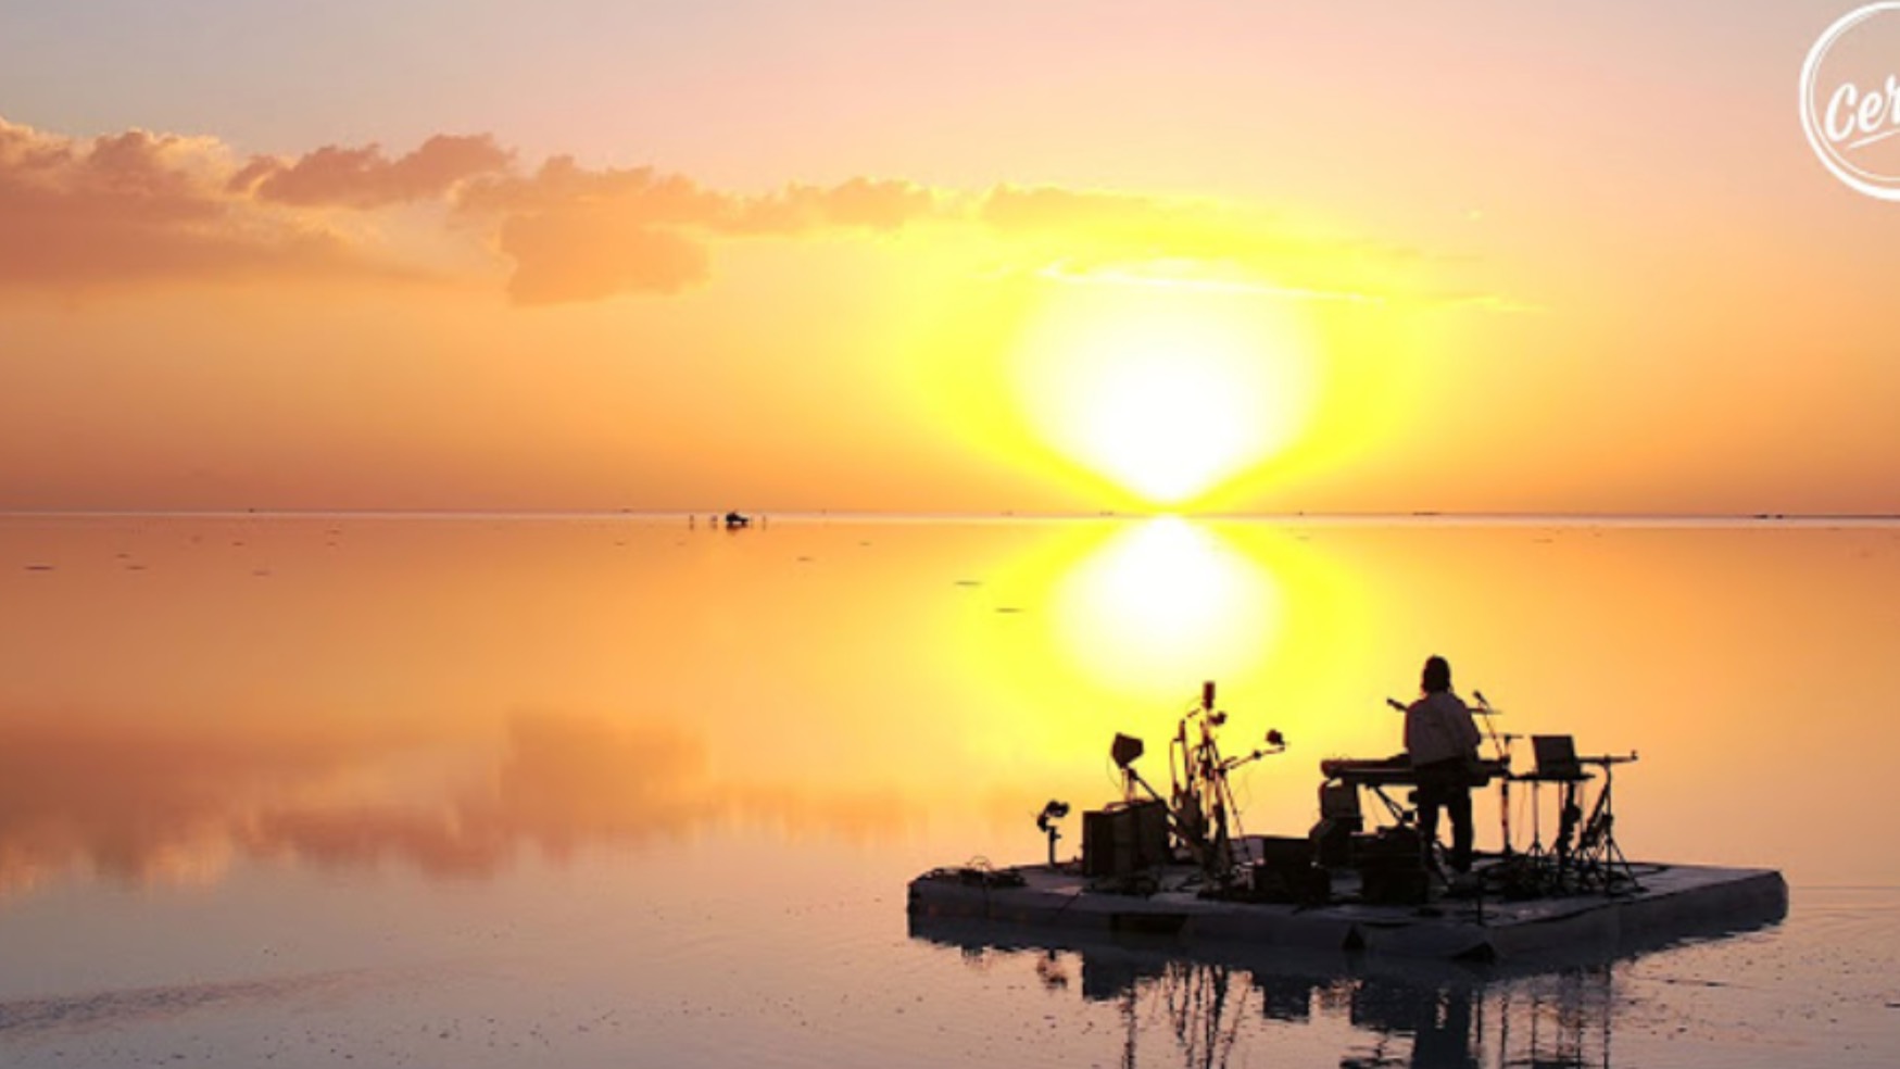
[[[1773,870],[1664,864],[1638,864],[1636,870],[1642,891],[1617,896],[1438,900],[1431,906],[1353,902],[1355,877],[1349,873],[1336,877],[1332,904],[1292,906],[1203,898],[1191,889],[1146,896],[1091,891],[1079,872],[1049,866],[998,873],[940,870],[910,883],[910,915],[1172,936],[1195,946],[1509,961],[1613,955],[1763,925],[1788,911],[1788,885]],[[1170,868],[1161,885],[1176,887],[1188,875],[1186,868]]]

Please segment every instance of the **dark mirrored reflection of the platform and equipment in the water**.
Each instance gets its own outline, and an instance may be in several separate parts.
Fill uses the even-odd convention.
[[[1706,928],[1699,934],[1735,934]],[[1079,970],[1085,1003],[1115,1003],[1123,1065],[1150,1065],[1172,1042],[1182,1065],[1322,1063],[1302,1050],[1315,1022],[1345,1022],[1340,1065],[1611,1065],[1623,955],[1461,963],[1222,944],[1182,957],[1155,936],[1049,930],[998,921],[910,917],[910,936],[990,970],[1020,961],[1047,989]],[[1632,949],[1653,949],[1647,947]],[[1302,1025],[1302,1031],[1271,1031]],[[1262,1031],[1269,1029],[1269,1031]],[[1159,1050],[1153,1050],[1159,1044]],[[1148,1048],[1148,1050],[1144,1050]],[[1410,1054],[1410,1058],[1406,1058]]]

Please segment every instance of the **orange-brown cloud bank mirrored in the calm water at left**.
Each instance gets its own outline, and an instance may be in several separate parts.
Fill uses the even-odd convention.
[[[718,780],[705,744],[663,722],[517,714],[486,760],[469,752],[348,731],[0,722],[0,892],[72,873],[211,883],[239,856],[483,877],[522,847],[560,860],[711,826],[880,839],[916,816],[889,792]]]

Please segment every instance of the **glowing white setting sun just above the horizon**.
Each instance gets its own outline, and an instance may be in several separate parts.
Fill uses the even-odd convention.
[[[1064,285],[1022,338],[1016,389],[1051,448],[1151,507],[1286,448],[1315,391],[1282,300],[1155,281]]]

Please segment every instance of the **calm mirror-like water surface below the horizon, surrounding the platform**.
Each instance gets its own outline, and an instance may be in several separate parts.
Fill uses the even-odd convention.
[[[1892,526],[19,516],[0,606],[8,1065],[1900,1056]],[[1203,680],[1303,834],[1427,653],[1788,919],[1543,972],[906,921]]]

